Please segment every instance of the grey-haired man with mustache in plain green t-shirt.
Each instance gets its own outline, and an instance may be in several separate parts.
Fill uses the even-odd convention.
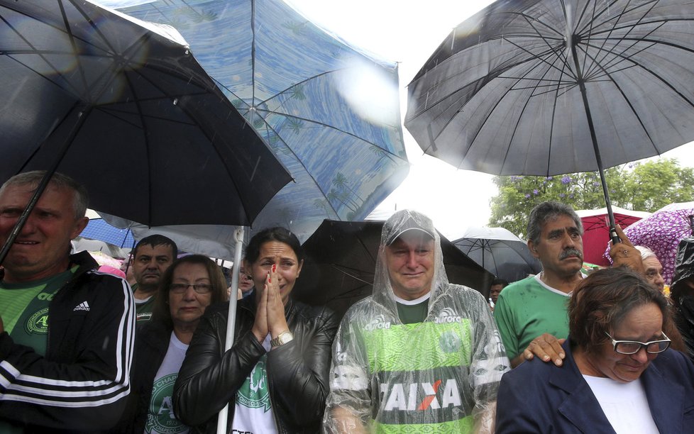
[[[583,225],[571,206],[543,202],[528,219],[528,247],[542,264],[536,276],[507,286],[494,308],[511,366],[535,356],[561,366],[568,299],[583,279]]]

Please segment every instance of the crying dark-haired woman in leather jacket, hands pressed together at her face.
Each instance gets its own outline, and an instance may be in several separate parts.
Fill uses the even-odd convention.
[[[338,321],[327,308],[292,301],[303,263],[289,230],[269,228],[251,238],[244,265],[255,291],[238,301],[231,349],[224,352],[228,306],[212,306],[176,382],[176,414],[197,432],[214,433],[226,404],[235,433],[320,430]]]

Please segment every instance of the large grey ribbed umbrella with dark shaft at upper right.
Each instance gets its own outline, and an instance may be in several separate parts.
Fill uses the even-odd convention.
[[[405,126],[461,169],[602,176],[694,140],[693,19],[691,1],[496,1],[414,77]]]

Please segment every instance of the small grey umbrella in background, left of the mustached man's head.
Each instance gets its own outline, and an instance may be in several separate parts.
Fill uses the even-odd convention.
[[[542,271],[542,265],[531,255],[527,243],[505,228],[473,226],[452,243],[471,260],[508,282]]]

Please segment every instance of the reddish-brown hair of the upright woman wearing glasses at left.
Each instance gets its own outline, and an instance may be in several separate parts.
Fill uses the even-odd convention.
[[[161,321],[170,329],[173,329],[173,320],[169,307],[169,292],[173,282],[173,274],[182,264],[199,264],[205,267],[209,275],[209,282],[212,285],[210,305],[226,301],[226,279],[224,278],[224,273],[219,269],[219,265],[216,265],[213,260],[204,255],[188,255],[177,259],[164,272],[159,282],[157,298],[154,300],[152,309],[152,320]]]

